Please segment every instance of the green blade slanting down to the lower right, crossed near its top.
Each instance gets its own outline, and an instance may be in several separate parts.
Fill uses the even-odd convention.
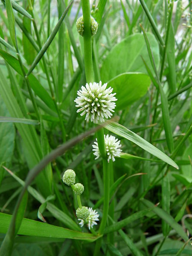
[[[142,199],[141,202],[146,206],[146,207],[152,207],[154,206],[153,203],[146,199]],[[153,209],[153,212],[157,214],[160,218],[162,218],[164,221],[166,221],[176,232],[177,234],[184,239],[185,241],[188,240],[188,236],[184,232],[183,228],[174,220],[174,218],[167,212],[165,212],[163,209],[160,207],[155,207]]]

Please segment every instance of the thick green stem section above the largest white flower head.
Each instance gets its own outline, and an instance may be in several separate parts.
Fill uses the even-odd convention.
[[[91,39],[91,21],[90,21],[90,3],[89,0],[81,0],[83,20],[84,20],[84,66],[87,83],[93,83],[93,59],[92,59],[92,39]]]

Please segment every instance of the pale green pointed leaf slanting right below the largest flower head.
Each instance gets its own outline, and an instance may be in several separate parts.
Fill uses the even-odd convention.
[[[160,151],[158,148],[156,148],[154,145],[152,145],[148,141],[144,140],[139,135],[125,128],[123,125],[119,125],[118,123],[113,122],[105,125],[105,128],[113,132],[114,134],[124,137],[127,140],[131,140],[133,143],[137,144],[138,146],[143,148],[145,151],[148,151],[150,154],[154,155],[155,157],[158,157],[162,161],[170,164],[176,169],[179,169],[177,164],[170,157],[168,157],[166,154],[164,154],[162,151]]]

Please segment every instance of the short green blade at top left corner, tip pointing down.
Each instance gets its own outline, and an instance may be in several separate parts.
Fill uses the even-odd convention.
[[[9,23],[9,33],[10,33],[12,43],[16,48],[17,44],[16,44],[16,35],[15,35],[15,16],[13,13],[11,0],[5,0],[5,3],[6,3],[7,18]]]

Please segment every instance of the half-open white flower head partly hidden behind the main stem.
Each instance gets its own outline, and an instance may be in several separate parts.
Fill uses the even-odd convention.
[[[113,160],[113,162],[115,161],[115,157],[120,157],[120,153],[121,153],[121,144],[120,144],[120,140],[116,139],[115,136],[112,135],[104,135],[105,137],[105,147],[106,147],[106,152],[107,152],[107,157],[108,157],[108,162],[110,159]],[[93,144],[93,151],[94,151],[94,155],[96,156],[95,159],[98,159],[100,157],[100,152],[99,152],[99,147],[98,147],[98,143],[97,143],[97,139]]]

